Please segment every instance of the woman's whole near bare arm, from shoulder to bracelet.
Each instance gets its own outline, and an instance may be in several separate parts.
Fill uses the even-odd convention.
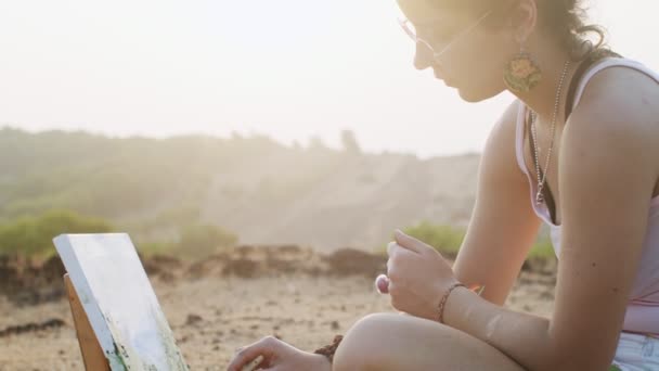
[[[610,89],[610,73],[593,78],[599,95],[584,95],[560,142],[563,234],[552,318],[514,312],[463,289],[448,302],[447,323],[528,370],[605,370],[622,329],[659,177],[659,130],[644,105],[658,97],[656,86],[629,72],[609,78],[618,85]]]

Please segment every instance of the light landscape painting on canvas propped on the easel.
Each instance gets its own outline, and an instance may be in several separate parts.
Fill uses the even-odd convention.
[[[128,234],[53,241],[113,371],[188,370]]]

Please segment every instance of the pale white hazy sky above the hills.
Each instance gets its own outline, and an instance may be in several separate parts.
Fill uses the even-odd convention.
[[[591,0],[659,69],[651,0]],[[412,67],[393,0],[2,0],[0,125],[116,136],[351,129],[369,151],[480,152],[512,100],[469,104]],[[440,119],[452,117],[452,119]]]

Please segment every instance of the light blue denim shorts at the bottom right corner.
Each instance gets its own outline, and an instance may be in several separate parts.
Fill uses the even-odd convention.
[[[621,333],[612,363],[610,370],[659,370],[659,338],[631,332]]]

